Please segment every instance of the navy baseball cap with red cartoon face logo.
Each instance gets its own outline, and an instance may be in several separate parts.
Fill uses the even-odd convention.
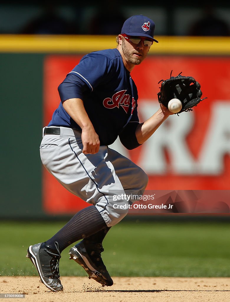
[[[147,37],[158,43],[158,41],[153,38],[154,30],[155,23],[151,19],[143,15],[135,15],[124,22],[121,34]]]

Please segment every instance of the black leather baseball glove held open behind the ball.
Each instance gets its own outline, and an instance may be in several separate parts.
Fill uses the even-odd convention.
[[[181,76],[182,72],[178,76],[173,77],[172,71],[170,74],[170,79],[161,80],[160,91],[158,92],[158,101],[168,108],[168,102],[172,98],[178,98],[182,103],[182,108],[178,113],[183,111],[191,111],[192,107],[197,106],[201,99],[202,91],[200,90],[200,83],[198,83],[191,76]]]

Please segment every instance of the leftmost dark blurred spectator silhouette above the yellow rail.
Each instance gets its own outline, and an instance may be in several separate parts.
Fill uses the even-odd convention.
[[[48,4],[36,19],[29,21],[21,34],[77,34],[75,24],[58,15],[54,5]]]

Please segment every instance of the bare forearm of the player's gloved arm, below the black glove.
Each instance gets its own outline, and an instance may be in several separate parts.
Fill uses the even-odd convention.
[[[136,128],[136,138],[138,143],[141,145],[148,140],[170,114],[171,113],[168,109],[160,107],[159,110],[148,120],[139,124]]]

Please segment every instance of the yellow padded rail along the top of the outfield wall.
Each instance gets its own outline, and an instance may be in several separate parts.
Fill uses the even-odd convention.
[[[230,37],[156,36],[151,54],[230,55]],[[0,35],[0,53],[88,53],[116,48],[116,36]]]

